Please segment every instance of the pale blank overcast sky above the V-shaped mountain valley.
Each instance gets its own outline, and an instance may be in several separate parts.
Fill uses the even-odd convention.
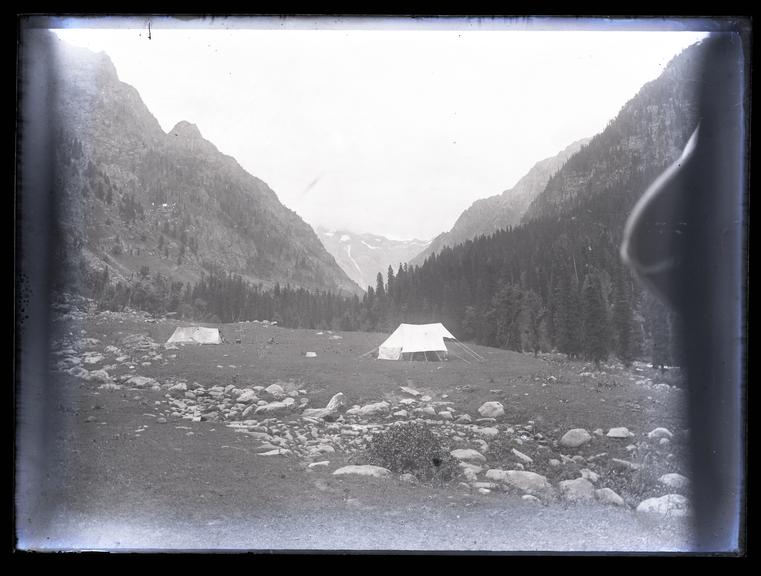
[[[426,240],[602,131],[705,36],[409,23],[56,32],[105,51],[165,131],[196,124],[313,226]]]

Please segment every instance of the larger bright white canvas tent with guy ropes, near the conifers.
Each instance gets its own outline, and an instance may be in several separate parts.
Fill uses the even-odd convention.
[[[378,346],[378,360],[413,360],[416,357],[425,360],[429,358],[441,360],[449,352],[444,343],[445,339],[451,340],[472,357],[483,359],[458,342],[457,338],[441,323],[436,323],[400,324],[385,342]],[[371,352],[372,350],[369,353]]]

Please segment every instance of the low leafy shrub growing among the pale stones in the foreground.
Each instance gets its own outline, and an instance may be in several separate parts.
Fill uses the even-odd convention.
[[[416,422],[396,424],[375,434],[368,443],[367,459],[397,474],[413,474],[422,482],[443,483],[459,470],[441,439]]]

